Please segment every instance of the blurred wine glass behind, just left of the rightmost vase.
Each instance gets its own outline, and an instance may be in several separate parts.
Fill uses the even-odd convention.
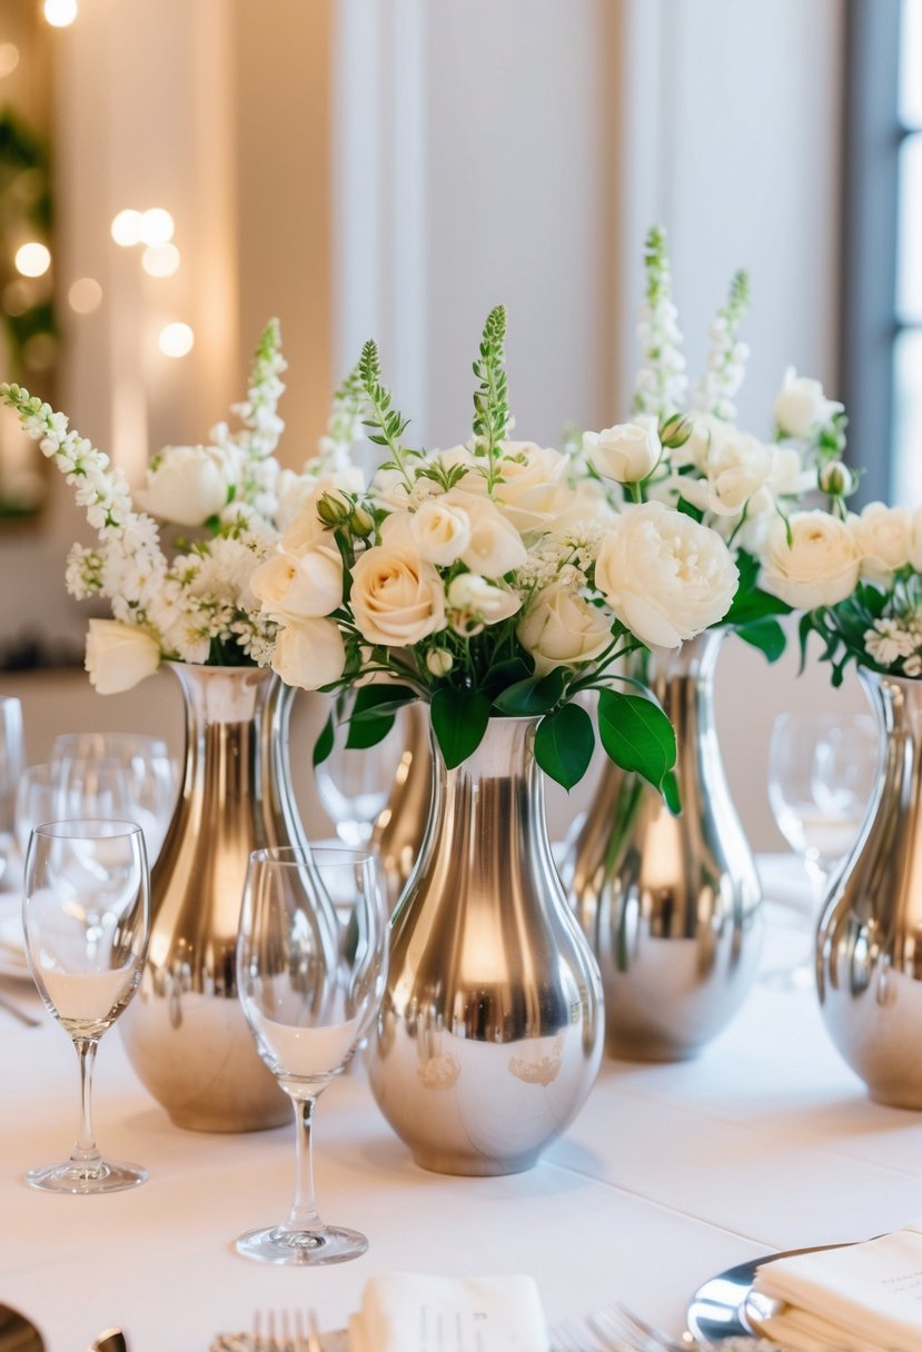
[[[869,714],[780,714],[775,721],[768,798],[779,830],[804,861],[814,909],[857,837],[875,783],[877,745]],[[810,957],[773,975],[788,977],[784,984],[806,983]]]

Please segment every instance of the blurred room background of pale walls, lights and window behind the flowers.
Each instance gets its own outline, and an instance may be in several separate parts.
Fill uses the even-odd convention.
[[[745,266],[741,423],[768,435],[795,365],[845,400],[864,499],[921,502],[922,0],[0,5],[0,379],[134,483],[227,416],[270,315],[293,466],[368,337],[416,443],[462,439],[500,300],[520,437],[623,419],[654,222],[692,379]],[[87,527],[41,460],[0,419],[0,692],[26,703],[30,757],[62,699],[74,727],[176,745],[166,677],[103,700],[66,672],[88,612],[64,561]],[[733,642],[721,660],[757,848],[779,844],[775,714],[863,706],[795,672]],[[554,798],[561,823],[573,807]]]

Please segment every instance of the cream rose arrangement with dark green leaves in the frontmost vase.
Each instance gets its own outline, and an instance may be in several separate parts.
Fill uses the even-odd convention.
[[[737,568],[691,515],[618,502],[579,460],[511,441],[504,338],[498,307],[475,362],[472,437],[431,453],[404,442],[407,419],[365,345],[365,426],[387,460],[366,496],[334,489],[306,504],[253,576],[278,625],[273,667],[306,688],[358,687],[351,746],[373,745],[402,704],[427,700],[449,767],[491,717],[539,715],[535,757],[568,788],[595,746],[575,698],[598,690],[606,752],[675,807],[672,727],[612,667],[717,623]],[[329,723],[315,758],[331,742]]]

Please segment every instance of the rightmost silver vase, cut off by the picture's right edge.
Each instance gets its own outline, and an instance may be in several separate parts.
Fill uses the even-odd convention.
[[[922,681],[861,679],[880,731],[879,776],[819,921],[819,1007],[871,1098],[922,1109]]]

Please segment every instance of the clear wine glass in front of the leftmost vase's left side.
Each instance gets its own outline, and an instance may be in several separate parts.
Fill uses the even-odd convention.
[[[70,1034],[80,1061],[80,1126],[70,1157],[30,1169],[47,1192],[115,1192],[147,1178],[104,1160],[92,1125],[92,1076],[103,1033],[134,995],[147,949],[150,884],[134,822],[37,826],[26,854],[23,930],[39,995]]]

